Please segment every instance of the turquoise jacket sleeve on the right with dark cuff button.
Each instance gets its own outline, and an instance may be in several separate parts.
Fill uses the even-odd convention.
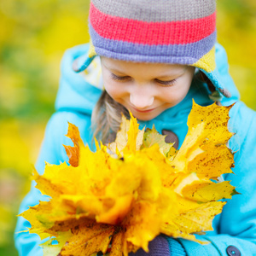
[[[235,168],[224,179],[231,180],[241,195],[228,200],[213,232],[198,236],[210,241],[208,245],[179,239],[189,256],[256,255],[256,113],[237,102],[230,115],[230,131],[236,132],[230,139],[230,148],[236,152]]]

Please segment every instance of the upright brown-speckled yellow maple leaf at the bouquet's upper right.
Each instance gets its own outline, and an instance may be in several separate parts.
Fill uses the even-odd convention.
[[[233,154],[225,145],[233,135],[228,130],[231,107],[218,107],[215,103],[201,107],[193,103],[188,134],[172,161],[177,172],[194,170],[208,179],[232,172]]]

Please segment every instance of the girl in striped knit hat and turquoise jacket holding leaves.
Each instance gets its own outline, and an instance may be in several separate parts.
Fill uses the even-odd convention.
[[[213,102],[230,105],[229,146],[235,154],[231,180],[241,195],[225,205],[213,221],[213,231],[195,241],[158,236],[149,242],[149,253],[136,255],[256,255],[256,133],[255,113],[239,101],[228,73],[224,49],[216,43],[214,0],[92,0],[91,43],[67,50],[61,63],[61,86],[56,113],[49,120],[37,170],[44,161],[67,161],[62,144],[67,121],[79,126],[84,143],[93,135],[112,141],[121,113],[128,110],[141,127],[166,135],[166,141],[183,143],[192,99],[201,106]],[[90,63],[91,62],[91,63]],[[34,189],[20,212],[38,204]],[[16,231],[30,224],[19,218]],[[15,235],[20,255],[43,255],[37,235]],[[132,254],[132,253],[131,253]]]

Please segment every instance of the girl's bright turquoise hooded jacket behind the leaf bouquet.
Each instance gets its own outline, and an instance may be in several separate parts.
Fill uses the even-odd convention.
[[[87,44],[68,49],[62,59],[60,89],[55,102],[56,112],[49,119],[45,131],[36,165],[39,173],[44,172],[44,161],[55,165],[67,161],[67,154],[62,146],[72,145],[71,140],[64,136],[67,134],[67,121],[79,126],[84,143],[91,141],[90,116],[102,90],[92,86],[72,69],[73,61],[84,55],[86,50]],[[239,101],[239,93],[228,73],[227,56],[219,44],[216,45],[216,61],[219,77],[232,95],[230,98],[223,97],[221,102],[225,106],[236,102],[230,111],[229,121],[230,131],[236,132],[230,139],[230,148],[236,152],[233,169],[235,174],[227,174],[224,179],[231,180],[231,184],[241,195],[235,195],[232,200],[228,200],[223,212],[214,218],[214,230],[199,237],[201,240],[211,241],[208,245],[202,246],[184,239],[178,241],[189,256],[231,255],[226,252],[230,246],[236,247],[241,255],[256,255],[256,115]],[[151,128],[154,124],[160,132],[173,131],[181,145],[188,131],[186,122],[192,107],[192,98],[196,103],[207,106],[212,104],[208,95],[207,85],[194,80],[183,102],[167,109],[155,119],[141,122],[141,126]],[[34,189],[32,183],[31,191],[21,203],[20,212],[38,204],[38,200],[43,200],[42,195],[38,189]],[[30,227],[30,224],[24,218],[19,218],[16,231],[26,230],[27,227]],[[22,256],[43,255],[42,249],[38,247],[39,242],[38,235],[28,232],[15,234],[15,244]]]

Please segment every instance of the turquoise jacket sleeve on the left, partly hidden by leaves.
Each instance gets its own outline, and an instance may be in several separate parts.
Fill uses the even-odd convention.
[[[68,112],[55,113],[45,130],[44,142],[42,144],[36,169],[39,174],[44,173],[45,161],[50,164],[59,165],[60,162],[67,161],[67,154],[64,145],[72,145],[69,138],[65,137],[67,134],[68,122],[79,126],[79,131],[84,135],[84,140],[89,141],[90,135],[88,130],[90,127],[90,117],[84,114],[75,114]],[[85,143],[85,142],[84,142]],[[41,195],[38,189],[35,189],[35,182],[32,182],[30,192],[26,195],[20,204],[20,211],[24,212],[29,207],[38,205],[40,201],[46,201],[47,197]],[[20,232],[27,230],[31,224],[23,217],[18,218],[15,229],[15,246],[18,249],[20,256],[43,256],[43,250],[39,247],[41,243],[40,237],[37,234],[30,234],[29,232]],[[43,241],[44,242],[44,241]]]

